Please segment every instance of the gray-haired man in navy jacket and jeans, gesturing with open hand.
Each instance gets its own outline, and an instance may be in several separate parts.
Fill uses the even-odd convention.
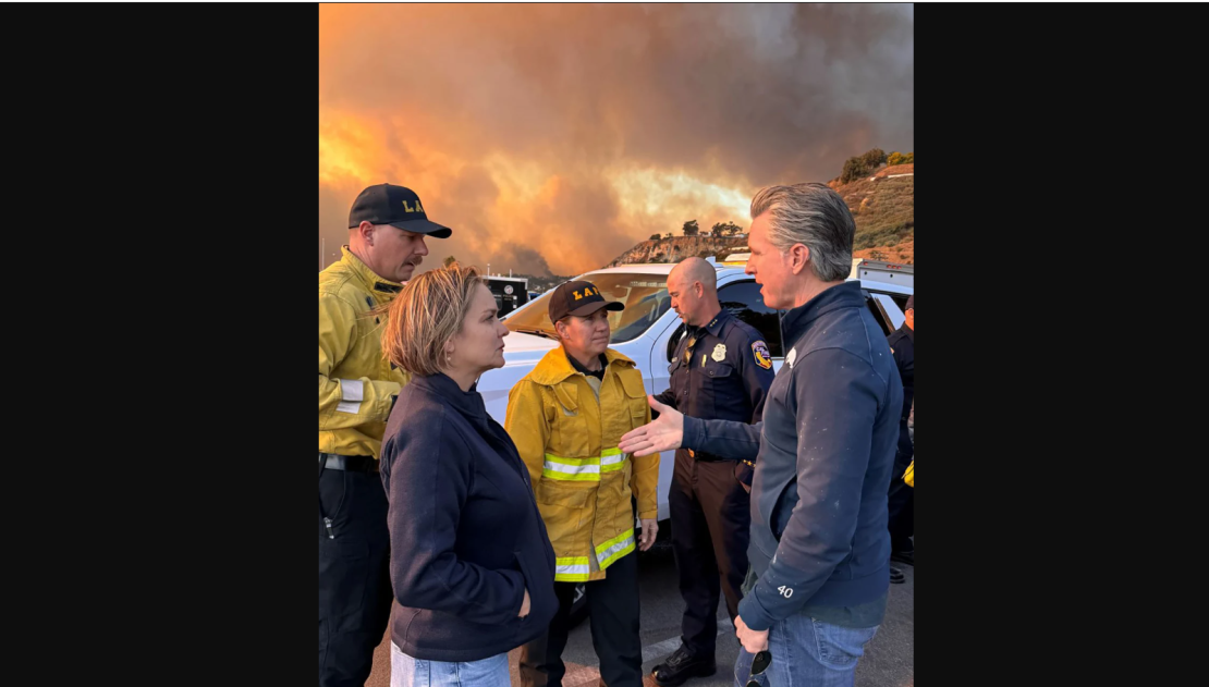
[[[765,305],[789,311],[763,421],[688,417],[652,397],[659,418],[619,448],[758,456],[736,685],[754,654],[770,651],[771,664],[753,676],[765,687],[850,686],[890,589],[886,485],[902,381],[860,283],[845,283],[856,225],[844,200],[823,184],[769,186],[751,215],[746,271]]]

